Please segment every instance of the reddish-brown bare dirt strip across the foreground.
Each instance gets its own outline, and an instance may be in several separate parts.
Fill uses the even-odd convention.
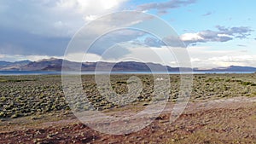
[[[96,132],[73,115],[61,121],[13,123],[0,127],[0,143],[256,143],[255,100],[191,102],[172,124],[172,109],[166,107],[152,124],[127,135]]]

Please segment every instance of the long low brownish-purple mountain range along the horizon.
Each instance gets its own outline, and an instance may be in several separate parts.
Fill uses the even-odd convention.
[[[62,62],[66,65],[62,67]],[[179,72],[180,68],[183,71],[191,71],[191,68],[186,67],[171,67],[163,66],[155,63],[143,63],[135,61],[121,61],[118,63],[112,62],[79,62],[62,60],[62,59],[44,59],[38,61],[22,60],[22,61],[1,61],[0,60],[0,71],[61,71],[63,68],[66,71],[75,71],[81,67],[83,72],[92,71],[108,71],[109,67],[113,67],[113,72]],[[216,67],[212,69],[199,69],[194,68],[194,72],[256,72],[256,67],[250,66],[227,66],[227,67]]]

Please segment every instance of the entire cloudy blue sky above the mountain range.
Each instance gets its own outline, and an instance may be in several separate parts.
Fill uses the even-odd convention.
[[[79,60],[77,58],[83,57],[84,52],[68,55],[65,52],[81,27],[105,14],[136,10],[154,14],[172,26],[194,67],[256,67],[255,5],[255,0],[1,0],[0,60],[51,57]],[[129,17],[124,18],[120,16],[114,22],[123,26],[137,25]],[[150,19],[154,25],[153,18],[142,19]],[[113,25],[106,21],[88,30],[91,35],[87,35],[88,38],[103,31],[107,23],[107,27]],[[146,23],[140,25],[147,27]],[[163,29],[156,24],[155,27],[159,31]],[[165,40],[172,44],[165,45],[162,43]],[[86,52],[85,60],[143,60],[177,66],[175,55],[167,52],[168,46],[174,51],[182,49],[170,36],[156,37],[152,33],[123,29],[99,37]]]

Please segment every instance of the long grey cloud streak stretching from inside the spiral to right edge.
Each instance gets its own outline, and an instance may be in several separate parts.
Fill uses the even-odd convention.
[[[145,43],[153,47],[171,46],[171,47],[184,47],[196,45],[196,43],[207,43],[207,42],[228,42],[235,38],[247,38],[252,29],[246,26],[226,28],[224,26],[216,26],[218,31],[206,30],[196,33],[185,33],[181,37],[165,37],[162,41],[154,38],[146,38]],[[165,42],[165,43],[163,43]]]

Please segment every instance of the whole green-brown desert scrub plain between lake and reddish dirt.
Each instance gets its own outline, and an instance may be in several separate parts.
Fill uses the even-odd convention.
[[[111,89],[123,96],[123,101],[131,105],[146,105],[154,97],[154,78],[150,75],[136,75],[141,79],[142,91],[139,95],[125,97],[131,75],[112,75]],[[108,101],[113,93],[101,95],[93,75],[82,76],[83,89],[90,105],[79,97],[73,102],[75,111],[92,108],[106,110],[124,107],[118,102]],[[169,99],[175,102],[180,90],[180,76],[170,75]],[[103,91],[110,88],[100,88]],[[74,91],[75,92],[75,91]],[[253,74],[201,74],[194,76],[191,101],[208,101],[236,96],[256,96],[256,73]],[[70,102],[70,101],[69,101]],[[0,76],[0,118],[19,118],[47,112],[70,111],[61,86],[61,76]]]

